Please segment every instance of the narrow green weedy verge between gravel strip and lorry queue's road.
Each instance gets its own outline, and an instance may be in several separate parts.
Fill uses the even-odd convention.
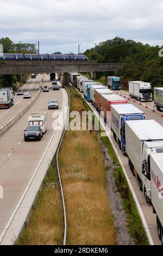
[[[89,105],[87,105],[87,103],[84,101],[84,99],[80,95],[79,97],[83,100],[83,104],[86,107],[87,111],[88,110],[92,111]],[[98,136],[100,135],[101,135],[101,131],[99,131],[98,133]],[[108,154],[112,159],[115,184],[118,192],[120,192],[120,195],[122,198],[122,205],[127,214],[127,225],[129,228],[129,233],[131,237],[133,237],[136,245],[148,245],[148,239],[146,236],[145,229],[143,228],[141,218],[136,208],[134,198],[132,196],[131,191],[129,190],[128,182],[123,173],[123,169],[120,163],[118,162],[115,151],[112,148],[112,145],[108,137],[100,137],[100,138],[103,144],[105,145],[105,147],[108,148]]]

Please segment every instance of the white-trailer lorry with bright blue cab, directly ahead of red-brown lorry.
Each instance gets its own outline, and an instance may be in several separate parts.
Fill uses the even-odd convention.
[[[132,104],[111,105],[111,130],[124,155],[126,154],[125,122],[144,119],[145,113]]]

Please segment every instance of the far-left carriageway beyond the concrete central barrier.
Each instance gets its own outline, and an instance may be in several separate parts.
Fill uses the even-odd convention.
[[[26,107],[27,104],[32,101],[33,97],[37,93],[40,88],[40,82],[43,78],[43,75],[37,75],[35,79],[30,78],[23,86],[23,92],[30,92],[31,99],[23,99],[23,95],[14,96],[14,106],[9,109],[0,109],[0,127],[4,124],[8,123],[12,117],[14,117],[18,112],[22,110],[22,108]]]

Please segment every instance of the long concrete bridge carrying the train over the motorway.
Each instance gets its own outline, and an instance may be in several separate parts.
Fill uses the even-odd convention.
[[[90,63],[90,62],[5,62],[0,64],[0,75],[9,74],[32,74],[46,72],[97,72],[97,71],[116,71],[124,66],[125,63]]]

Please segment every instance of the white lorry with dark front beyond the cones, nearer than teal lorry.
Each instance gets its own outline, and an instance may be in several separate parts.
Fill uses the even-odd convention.
[[[129,96],[139,101],[152,101],[151,84],[142,81],[130,81]]]

